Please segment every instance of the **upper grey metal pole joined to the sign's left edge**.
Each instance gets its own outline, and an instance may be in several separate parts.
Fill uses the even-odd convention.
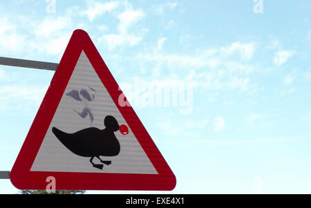
[[[12,59],[8,57],[0,57],[0,65],[38,68],[44,70],[56,70],[58,66],[58,64],[51,62],[37,62],[26,59]]]

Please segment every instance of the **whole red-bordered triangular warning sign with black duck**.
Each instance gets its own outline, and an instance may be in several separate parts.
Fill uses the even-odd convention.
[[[125,103],[125,104],[124,104]],[[10,173],[18,189],[172,190],[176,178],[88,34],[75,30]]]

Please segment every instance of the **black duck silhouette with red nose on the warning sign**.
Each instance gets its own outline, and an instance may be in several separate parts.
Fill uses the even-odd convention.
[[[71,152],[82,157],[91,157],[93,167],[102,169],[103,164],[95,164],[94,158],[98,158],[104,164],[111,164],[111,160],[102,160],[100,156],[116,156],[120,153],[120,143],[115,137],[115,131],[120,130],[123,135],[129,133],[127,126],[119,126],[115,117],[107,115],[104,119],[105,129],[90,127],[75,133],[66,133],[56,127],[52,128],[57,139]]]

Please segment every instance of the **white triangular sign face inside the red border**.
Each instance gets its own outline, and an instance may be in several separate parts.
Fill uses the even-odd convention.
[[[82,50],[30,171],[158,174],[131,129],[126,135],[113,132],[120,143],[117,155],[93,158],[70,146],[75,139],[91,141],[93,134],[86,132],[102,132],[107,115],[129,127]],[[61,142],[59,135],[70,136]]]

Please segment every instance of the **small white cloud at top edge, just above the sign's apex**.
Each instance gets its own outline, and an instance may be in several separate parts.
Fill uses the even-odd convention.
[[[88,17],[90,21],[93,21],[95,18],[100,17],[105,12],[111,12],[115,10],[120,3],[117,1],[109,1],[102,3],[100,1],[88,1],[87,9],[81,12],[81,15]]]

